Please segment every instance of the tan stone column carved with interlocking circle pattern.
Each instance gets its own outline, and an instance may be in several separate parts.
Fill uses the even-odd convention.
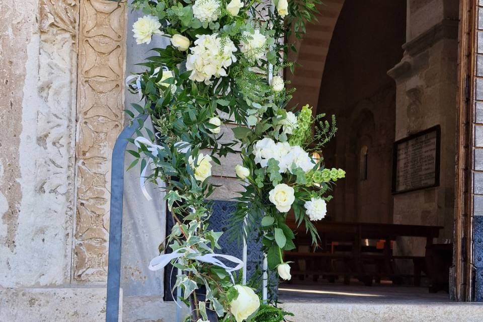
[[[123,124],[125,4],[81,0],[73,279],[105,281],[111,153]]]

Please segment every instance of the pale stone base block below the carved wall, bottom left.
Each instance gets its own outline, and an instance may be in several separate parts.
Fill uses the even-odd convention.
[[[0,321],[104,322],[105,320],[106,289],[102,287],[0,288]]]

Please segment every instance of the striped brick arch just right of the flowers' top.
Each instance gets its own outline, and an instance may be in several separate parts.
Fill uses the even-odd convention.
[[[292,74],[286,73],[286,79],[297,91],[293,94],[292,103],[299,106],[309,104],[317,110],[320,82],[324,73],[324,66],[329,52],[332,34],[345,0],[323,0],[317,8],[318,22],[307,24],[306,33],[301,41],[296,43],[297,52],[289,54],[290,61],[297,61]]]

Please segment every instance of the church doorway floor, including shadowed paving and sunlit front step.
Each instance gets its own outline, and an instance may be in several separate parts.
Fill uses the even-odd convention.
[[[279,301],[293,322],[483,321],[483,303],[452,302],[422,287],[298,282],[281,284]]]

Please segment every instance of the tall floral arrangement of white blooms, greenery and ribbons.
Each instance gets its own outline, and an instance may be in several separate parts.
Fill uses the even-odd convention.
[[[295,89],[286,89],[281,74],[285,68],[293,70],[286,57],[295,47],[288,39],[302,37],[318,3],[130,4],[145,15],[133,25],[136,42],[168,37],[170,45],[153,48],[156,54],[141,63],[146,70],[127,78],[130,91],[143,102],[133,104],[134,110],[149,114],[155,129],[144,128],[140,118],[126,111],[139,128],[139,137],[131,139],[137,149],[128,151],[136,157],[129,169],[140,163],[142,185],[148,181],[166,191],[175,222],[166,245],[173,252],[153,259],[150,268],[171,262],[182,271],[175,286],[192,307],[192,321],[281,321],[290,315],[276,303],[261,303],[252,288],[241,285],[236,273],[241,261],[216,253],[222,233],[209,227],[206,200],[216,189],[210,181],[212,165],[241,145],[243,164],[235,171],[245,191],[231,217],[233,235],[260,236],[269,268],[282,279],[290,279],[283,251],[295,247],[286,224],[291,209],[297,224],[317,242],[312,221],[324,218],[331,186],[345,176],[341,169],[326,169],[318,154],[337,130],[335,118],[314,117],[308,106],[288,107]],[[232,142],[220,140],[227,122],[237,124]]]

